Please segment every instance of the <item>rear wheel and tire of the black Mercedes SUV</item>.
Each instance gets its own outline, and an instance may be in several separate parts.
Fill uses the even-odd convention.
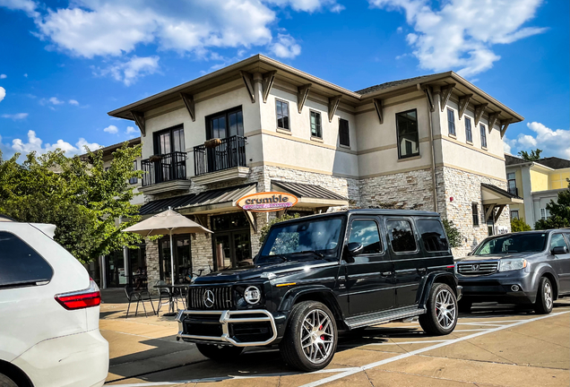
[[[451,333],[457,324],[457,298],[445,283],[435,283],[426,303],[427,313],[419,316],[419,325],[430,335]]]

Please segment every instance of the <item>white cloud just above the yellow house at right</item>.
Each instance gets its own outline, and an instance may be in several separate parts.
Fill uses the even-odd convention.
[[[535,135],[520,133],[515,139],[503,139],[505,152],[518,153],[519,150],[542,150],[542,157],[557,156],[570,159],[570,130],[553,130],[538,122],[527,124]]]

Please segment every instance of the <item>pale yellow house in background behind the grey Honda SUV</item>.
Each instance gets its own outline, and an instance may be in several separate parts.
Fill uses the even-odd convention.
[[[523,203],[511,205],[511,218],[524,220],[531,228],[550,215],[546,205],[557,202],[558,193],[568,187],[570,160],[550,157],[527,161],[505,154],[508,191],[521,196]]]

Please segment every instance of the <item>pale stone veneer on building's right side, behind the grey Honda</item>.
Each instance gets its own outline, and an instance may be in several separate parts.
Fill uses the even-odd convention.
[[[438,185],[442,180],[445,185],[445,190],[438,192],[439,212],[443,218],[453,220],[463,236],[463,245],[453,248],[453,256],[460,258],[471,252],[488,236],[485,212],[481,203],[481,183],[497,185],[506,190],[506,182],[448,167],[437,168],[436,176]],[[451,197],[453,197],[453,202],[450,201]],[[474,202],[477,203],[479,209],[479,226],[473,226],[471,203]],[[508,206],[505,206],[495,225],[505,226],[510,232],[509,213]]]

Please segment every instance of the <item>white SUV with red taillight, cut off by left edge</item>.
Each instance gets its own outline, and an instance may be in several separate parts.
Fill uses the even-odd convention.
[[[0,387],[105,383],[99,288],[55,230],[0,216]]]

